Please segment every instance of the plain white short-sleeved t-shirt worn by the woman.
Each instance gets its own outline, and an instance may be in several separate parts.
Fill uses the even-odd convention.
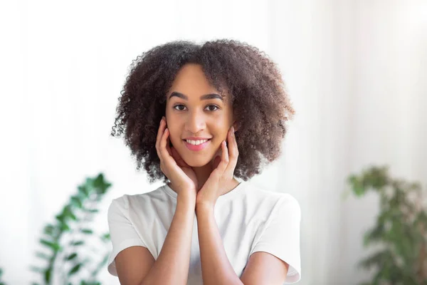
[[[176,195],[163,185],[152,192],[112,200],[108,208],[110,274],[117,276],[115,257],[127,247],[146,247],[154,259],[159,257],[176,209]],[[300,281],[301,209],[294,197],[243,181],[218,197],[214,215],[228,260],[239,277],[251,254],[268,252],[290,265],[285,284]],[[196,219],[194,214],[188,285],[203,284]]]

